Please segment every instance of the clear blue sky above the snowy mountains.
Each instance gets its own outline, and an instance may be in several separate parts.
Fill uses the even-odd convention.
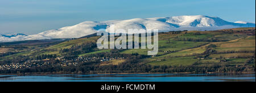
[[[255,0],[0,0],[0,33],[32,35],[88,20],[179,15],[255,23]]]

